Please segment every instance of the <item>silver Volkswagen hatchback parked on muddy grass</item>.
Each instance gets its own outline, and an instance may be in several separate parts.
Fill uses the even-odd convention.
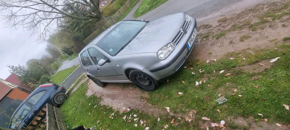
[[[100,87],[105,82],[133,82],[153,91],[182,66],[196,35],[196,20],[183,12],[151,21],[125,20],[92,40],[79,53],[79,61]]]

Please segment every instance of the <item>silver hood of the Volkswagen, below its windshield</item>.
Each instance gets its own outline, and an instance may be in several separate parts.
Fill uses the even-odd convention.
[[[185,13],[176,13],[151,20],[142,31],[118,55],[157,53],[179,32],[185,21]]]

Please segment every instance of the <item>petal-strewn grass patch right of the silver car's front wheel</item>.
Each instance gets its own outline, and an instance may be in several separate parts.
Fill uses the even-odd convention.
[[[281,45],[278,48],[253,50],[255,54],[247,50],[230,52],[216,63],[188,63],[188,67],[182,68],[169,82],[163,82],[156,91],[149,92],[150,98],[147,101],[160,109],[170,107],[174,113],[188,113],[187,109],[194,109],[198,113],[196,119],[208,117],[219,121],[229,116],[252,116],[261,120],[261,116],[257,115],[261,113],[269,122],[290,123],[290,111],[282,106],[290,105],[290,45]],[[235,59],[230,60],[230,57]],[[245,64],[258,64],[258,61],[264,59],[270,63],[275,57],[281,58],[273,63],[271,69],[261,73],[248,73],[234,68]],[[191,67],[192,70],[189,69]],[[200,69],[204,72],[199,73]],[[225,72],[219,73],[221,70]],[[192,75],[193,71],[195,75]],[[230,76],[225,76],[227,73],[230,73]],[[259,78],[255,80],[253,76]],[[195,86],[196,81],[203,80],[206,82]],[[261,86],[254,88],[253,85]],[[237,92],[233,91],[234,89],[237,89]],[[183,94],[178,95],[178,92]],[[235,95],[231,95],[232,93]],[[218,94],[225,96],[228,101],[219,105],[215,101],[219,98]],[[166,96],[168,98],[165,98]],[[218,113],[217,109],[221,113]]]

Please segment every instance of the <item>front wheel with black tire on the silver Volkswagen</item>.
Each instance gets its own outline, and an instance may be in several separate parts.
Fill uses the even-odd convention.
[[[158,86],[158,82],[155,79],[139,70],[132,70],[129,77],[134,85],[145,91],[156,90]]]

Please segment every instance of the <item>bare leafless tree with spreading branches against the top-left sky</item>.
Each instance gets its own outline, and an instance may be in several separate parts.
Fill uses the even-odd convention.
[[[0,0],[0,11],[9,26],[24,26],[43,38],[62,21],[107,20],[99,9],[99,0]]]

